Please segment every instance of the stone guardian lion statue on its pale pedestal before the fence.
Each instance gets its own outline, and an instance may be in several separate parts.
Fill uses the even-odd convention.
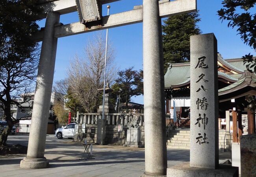
[[[141,129],[139,128],[139,122],[141,121],[141,116],[135,115],[133,116],[127,126],[127,139],[124,147],[143,147],[141,143]]]

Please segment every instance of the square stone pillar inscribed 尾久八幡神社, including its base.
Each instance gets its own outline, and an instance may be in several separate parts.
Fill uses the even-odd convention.
[[[238,176],[219,166],[217,40],[213,33],[190,37],[190,162],[167,169],[167,177]]]

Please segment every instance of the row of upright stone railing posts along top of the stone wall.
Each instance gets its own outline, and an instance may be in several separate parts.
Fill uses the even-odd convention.
[[[143,113],[105,113],[104,117],[107,120],[108,125],[127,125],[129,120],[135,115],[141,116],[140,126],[144,126],[144,114]],[[102,118],[101,113],[78,113],[78,124],[95,124],[97,125],[98,119]]]

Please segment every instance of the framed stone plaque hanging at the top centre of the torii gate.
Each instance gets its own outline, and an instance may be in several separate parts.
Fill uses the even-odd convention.
[[[81,23],[101,19],[101,4],[98,0],[76,0],[78,15]]]

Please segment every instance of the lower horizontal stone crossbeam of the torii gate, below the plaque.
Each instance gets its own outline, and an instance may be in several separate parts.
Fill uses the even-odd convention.
[[[181,13],[190,13],[196,11],[197,4],[195,0],[176,0],[171,2],[163,2],[159,4],[159,16],[161,18],[178,15]],[[65,24],[56,26],[54,29],[54,37],[66,37],[70,35],[76,35],[81,33],[87,33],[96,30],[104,30],[106,28],[114,28],[118,26],[125,26],[129,24],[135,24],[143,22],[143,10],[142,8],[126,11],[122,13],[116,13],[113,15],[102,17],[101,24],[88,24],[85,26],[80,22],[71,24]],[[127,18],[129,17],[129,18]],[[33,37],[35,41],[42,41],[44,30],[41,30]]]

